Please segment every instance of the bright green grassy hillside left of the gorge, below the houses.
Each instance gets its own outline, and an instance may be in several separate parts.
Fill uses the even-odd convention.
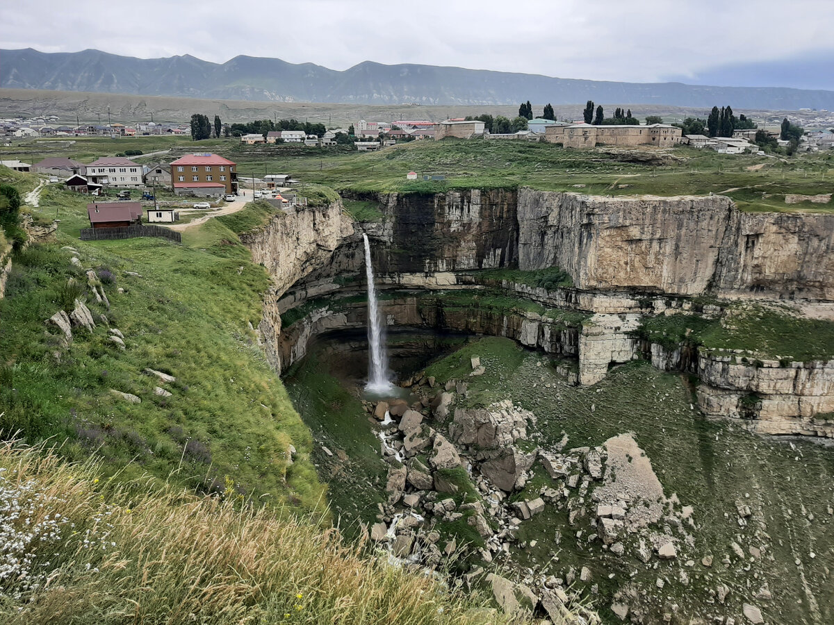
[[[319,503],[324,489],[309,460],[309,430],[249,326],[259,322],[269,278],[226,225],[248,226],[263,209],[210,220],[183,245],[153,238],[83,243],[76,238],[86,221],[83,199],[53,189],[43,199],[36,214],[51,216],[60,205],[58,243],[17,258],[0,301],[4,431],[20,428],[30,440],[69,437],[64,453],[82,458],[99,449],[110,473],[126,468],[128,476],[164,478],[182,463],[178,479],[191,487],[222,488],[229,476],[264,501]],[[127,350],[108,343],[99,324],[92,336],[77,331],[55,362],[43,321],[61,307],[68,278],[86,283],[62,244],[78,249],[84,268],[115,276],[105,287],[110,310],[90,307],[124,333]],[[173,397],[153,394],[158,381],[143,375],[148,367],[177,378],[163,385]],[[111,388],[143,401],[125,403]],[[290,444],[299,454],[288,465]]]

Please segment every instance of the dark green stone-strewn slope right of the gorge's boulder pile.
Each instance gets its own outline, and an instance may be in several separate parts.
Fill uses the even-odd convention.
[[[615,434],[632,432],[651,458],[666,494],[677,493],[683,504],[695,506],[699,526],[694,532],[696,545],[680,556],[681,560],[692,557],[698,562],[689,569],[689,587],[670,577],[671,582],[658,591],[656,577],[666,576],[670,564],[661,562],[655,570],[635,557],[610,557],[600,550],[599,542],[589,546],[585,540],[571,537],[577,529],[587,533],[587,521],[571,528],[566,512],[555,513],[552,508],[522,524],[520,540],[535,538],[538,544],[514,552],[520,566],[547,562],[558,552],[558,562],[545,567],[550,572],[564,575],[570,566],[577,570],[590,567],[594,581],[600,584],[598,605],[608,617],[613,617],[607,612],[610,596],[636,572],[634,579],[649,588],[650,594],[669,597],[666,605],[678,602],[685,615],[694,607],[703,609],[709,589],[725,582],[733,591],[728,607],[716,608],[716,612],[740,616],[741,602],[751,599],[766,581],[774,600],[759,603],[769,622],[831,622],[834,618],[828,572],[834,563],[834,523],[826,510],[834,499],[830,449],[801,441],[793,451],[786,443],[753,436],[731,423],[706,421],[691,409],[685,378],[661,373],[647,363],[615,368],[590,388],[570,388],[555,373],[550,358],[504,338],[484,338],[441,359],[427,368],[427,373],[440,382],[463,378],[474,354],[480,355],[486,373],[469,378],[470,398],[465,404],[482,406],[497,399],[513,399],[535,413],[538,424],[530,429],[541,433],[537,443],[542,446],[557,442],[563,432],[570,436],[569,448],[598,445]],[[550,479],[537,468],[528,491],[519,497],[535,497],[545,483]],[[736,499],[756,509],[745,528],[736,523]],[[809,515],[816,520],[810,522]],[[553,539],[556,531],[565,536],[558,545]],[[725,553],[732,553],[733,540],[745,550],[747,546],[768,546],[766,556],[751,564],[750,573],[741,570],[744,562],[734,561],[728,569],[720,563]],[[627,542],[626,554],[633,553],[632,549]],[[815,552],[816,558],[810,559],[809,552]],[[700,564],[707,553],[716,557],[709,570]],[[802,562],[800,570],[794,564],[797,557]],[[754,572],[759,579],[751,577]],[[614,578],[609,579],[612,573]],[[748,580],[751,589],[745,586]],[[816,612],[809,594],[815,597]]]

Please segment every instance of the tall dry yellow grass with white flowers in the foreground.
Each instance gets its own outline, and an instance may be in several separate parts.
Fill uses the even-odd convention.
[[[0,444],[0,571],[18,567],[0,574],[0,621],[506,622],[315,519],[98,474]]]

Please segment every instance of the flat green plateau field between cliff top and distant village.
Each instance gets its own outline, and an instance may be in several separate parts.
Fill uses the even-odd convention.
[[[826,212],[834,203],[786,204],[789,193],[834,191],[834,153],[791,158],[718,154],[679,147],[670,150],[571,150],[520,141],[416,141],[376,153],[292,145],[244,146],[236,139],[194,143],[190,138],[38,139],[0,148],[7,158],[37,161],[67,155],[89,162],[125,149],[144,153],[170,149],[159,158],[214,151],[238,163],[242,176],[289,173],[302,183],[364,193],[433,193],[455,188],[517,188],[528,185],[591,195],[707,195],[721,193],[747,211]],[[153,158],[139,158],[140,161]],[[406,173],[443,180],[406,180]],[[304,191],[304,185],[302,190]],[[356,207],[359,208],[359,207]],[[368,216],[361,213],[363,216]],[[373,216],[370,216],[373,218]]]

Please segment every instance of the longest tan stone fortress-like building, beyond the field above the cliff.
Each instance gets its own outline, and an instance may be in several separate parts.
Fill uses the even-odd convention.
[[[594,126],[586,123],[570,126],[552,125],[545,128],[545,141],[561,143],[565,148],[594,148],[597,145],[671,148],[683,141],[683,131],[666,123],[653,123],[648,126]]]

